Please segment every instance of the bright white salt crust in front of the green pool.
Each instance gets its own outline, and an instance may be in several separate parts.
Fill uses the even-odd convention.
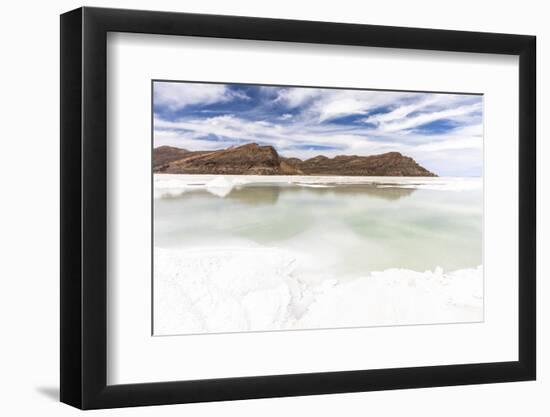
[[[155,248],[154,261],[155,335],[483,320],[481,266],[312,279],[266,247]]]

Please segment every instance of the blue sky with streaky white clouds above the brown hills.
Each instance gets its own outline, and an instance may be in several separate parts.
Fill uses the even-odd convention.
[[[258,143],[280,155],[397,151],[439,176],[481,176],[483,96],[155,81],[154,146]]]

